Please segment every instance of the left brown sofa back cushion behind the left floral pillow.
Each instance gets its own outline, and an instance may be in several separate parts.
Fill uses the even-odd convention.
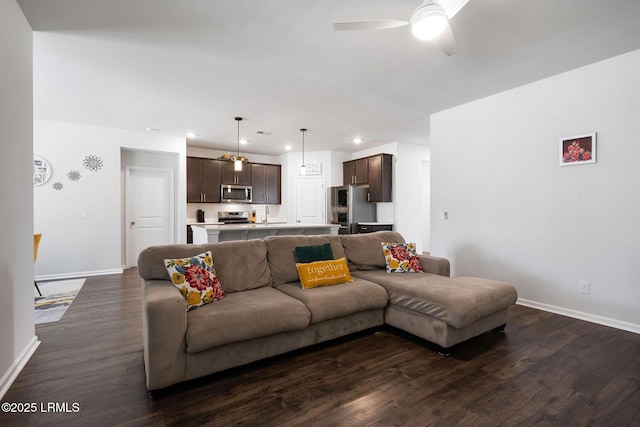
[[[211,251],[213,255],[216,274],[225,292],[271,285],[267,245],[262,240],[151,246],[138,256],[138,274],[146,280],[170,280],[164,259],[186,258],[206,251]]]

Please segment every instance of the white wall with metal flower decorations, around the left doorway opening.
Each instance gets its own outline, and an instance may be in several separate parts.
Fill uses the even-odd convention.
[[[40,279],[114,273],[123,266],[122,149],[177,156],[176,199],[185,200],[184,138],[97,126],[35,120],[34,152],[52,166],[51,180],[34,189],[34,226],[42,232],[36,263]],[[89,155],[103,161],[97,171],[83,165]],[[153,154],[149,154],[153,156]],[[135,158],[135,157],[134,157]],[[136,162],[142,160],[135,160]],[[71,181],[70,171],[81,174]],[[53,187],[62,184],[61,190]],[[186,207],[176,206],[175,240],[186,241]],[[81,218],[81,212],[87,218]]]

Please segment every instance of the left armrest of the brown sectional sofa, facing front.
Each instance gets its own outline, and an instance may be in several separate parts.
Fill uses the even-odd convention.
[[[142,282],[142,334],[147,389],[184,380],[187,303],[167,280]]]

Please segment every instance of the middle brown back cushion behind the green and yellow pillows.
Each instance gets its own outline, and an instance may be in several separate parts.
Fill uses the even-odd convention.
[[[338,236],[317,235],[317,236],[269,236],[264,241],[267,245],[267,259],[273,285],[278,286],[283,283],[297,282],[298,270],[296,268],[295,249],[297,246],[322,245],[329,243],[331,252],[337,258],[343,258],[344,249]],[[380,244],[378,244],[380,247]],[[222,280],[222,278],[220,278]]]

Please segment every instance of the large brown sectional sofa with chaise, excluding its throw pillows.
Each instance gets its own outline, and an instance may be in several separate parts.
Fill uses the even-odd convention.
[[[507,322],[513,286],[449,277],[449,262],[420,256],[424,273],[386,273],[381,242],[404,242],[392,231],[145,249],[143,336],[147,389],[173,384],[317,344],[384,323],[447,349]],[[345,257],[353,282],[303,289],[295,247],[330,243]],[[186,311],[164,259],[210,250],[225,298]]]

